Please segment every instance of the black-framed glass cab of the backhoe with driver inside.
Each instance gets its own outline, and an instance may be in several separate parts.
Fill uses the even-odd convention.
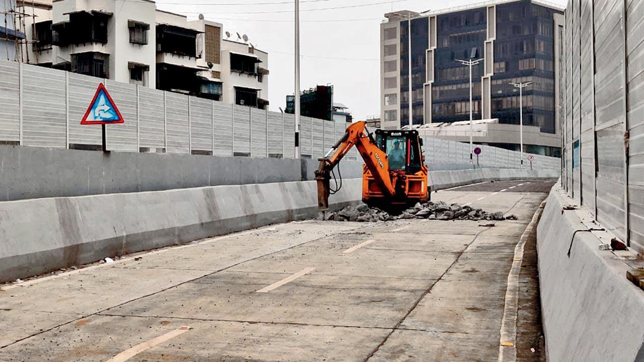
[[[390,171],[402,171],[412,175],[422,168],[422,138],[418,131],[384,129],[375,130],[375,144],[387,155]]]

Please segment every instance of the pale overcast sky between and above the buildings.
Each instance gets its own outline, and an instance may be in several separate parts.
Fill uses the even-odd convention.
[[[566,2],[551,1],[560,5]],[[301,88],[333,84],[334,101],[348,106],[355,119],[379,115],[379,24],[384,14],[397,10],[439,10],[478,2],[300,0]],[[224,31],[233,34],[232,40],[236,40],[236,32],[247,34],[256,48],[269,52],[269,100],[270,110],[274,111],[285,108],[286,95],[294,90],[293,4],[289,0],[157,1],[159,9],[185,14],[189,20],[204,14],[207,20],[223,23]],[[339,6],[343,8],[328,9]]]

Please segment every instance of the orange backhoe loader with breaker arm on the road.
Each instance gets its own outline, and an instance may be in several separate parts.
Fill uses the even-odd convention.
[[[354,146],[365,160],[362,191],[365,204],[392,209],[428,200],[428,169],[418,131],[376,129],[374,138],[365,122],[355,122],[327,155],[319,158],[316,171],[319,209],[328,209],[328,196],[337,191],[337,181],[336,189],[330,188],[331,175],[335,178],[333,169]]]

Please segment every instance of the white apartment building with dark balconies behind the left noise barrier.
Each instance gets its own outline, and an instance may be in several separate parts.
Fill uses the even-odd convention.
[[[25,26],[33,43],[19,48],[24,62],[245,106],[268,105],[268,54],[223,39],[223,25],[202,15],[189,21],[149,0],[20,1],[24,12],[35,14]]]

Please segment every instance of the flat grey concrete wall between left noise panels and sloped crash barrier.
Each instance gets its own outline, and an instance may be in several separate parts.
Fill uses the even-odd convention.
[[[0,145],[0,201],[313,180],[317,160]],[[343,160],[345,178],[362,162]]]

